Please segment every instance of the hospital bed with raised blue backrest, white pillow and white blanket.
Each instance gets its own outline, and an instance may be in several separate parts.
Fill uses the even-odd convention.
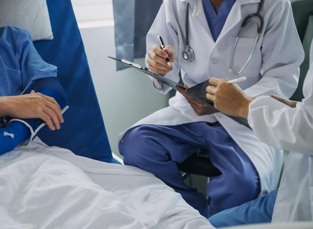
[[[41,57],[57,66],[69,108],[59,130],[44,129],[0,155],[0,228],[209,228],[153,174],[113,158],[70,0],[0,1],[0,11],[5,4],[17,22],[48,19],[39,33],[50,26],[51,34],[30,34]]]

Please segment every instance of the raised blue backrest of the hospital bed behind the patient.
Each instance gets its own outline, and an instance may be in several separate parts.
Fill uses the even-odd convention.
[[[46,128],[38,136],[48,145],[68,148],[77,155],[118,163],[112,157],[71,2],[46,2],[53,39],[33,43],[46,62],[57,66],[57,77],[68,94],[69,108],[63,114],[61,129]]]

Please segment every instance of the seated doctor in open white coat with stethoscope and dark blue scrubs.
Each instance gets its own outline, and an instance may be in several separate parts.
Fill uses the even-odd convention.
[[[182,55],[187,38],[187,2],[188,39],[189,46],[194,51],[193,61],[185,60]],[[221,0],[211,2],[220,3]],[[229,6],[229,3],[233,5]],[[240,34],[230,70],[231,52],[241,23],[247,15],[257,11],[259,3],[260,0],[222,1],[215,10],[217,17],[209,18],[215,12],[211,13],[214,4],[210,4],[208,0],[164,0],[146,36],[148,68],[176,82],[180,71],[183,83],[189,86],[210,77],[234,79],[246,76],[247,79],[238,84],[249,96],[274,93],[290,97],[297,86],[298,66],[304,55],[289,0],[263,0],[260,10],[263,26],[252,56],[240,74],[231,73],[241,70],[253,49],[257,28],[260,27],[260,20],[256,16],[249,19],[252,22],[247,23]],[[221,6],[228,10],[224,18],[218,12]],[[222,19],[224,22],[218,24],[218,20]],[[217,28],[214,27],[215,23]],[[158,35],[162,36],[166,45],[164,51],[159,45],[155,45],[158,44]],[[167,56],[171,66],[167,65]],[[171,89],[155,79],[152,81],[154,87],[162,93]],[[120,133],[119,151],[124,156],[124,162],[153,172],[180,192],[204,216],[239,205],[276,188],[282,150],[264,144],[251,129],[220,112],[195,112],[196,109],[203,109],[203,104],[198,102],[191,106],[190,102],[196,101],[188,98],[184,91],[176,91],[175,96],[169,99],[169,106],[139,120]],[[211,125],[213,129],[204,130],[211,128]],[[149,129],[142,129],[145,127]],[[215,128],[225,133],[225,138],[221,139]],[[173,137],[172,130],[175,134],[180,134],[178,138]],[[192,139],[183,139],[188,137]],[[223,155],[228,149],[222,147],[229,142],[231,149],[228,148],[228,154]],[[216,144],[222,146],[213,150]],[[197,193],[194,187],[187,187],[183,183],[174,163],[183,161],[196,152],[196,148],[208,149],[207,155],[222,172],[222,175],[210,180],[206,189],[208,199]],[[238,160],[233,160],[232,155],[236,155]],[[238,170],[248,166],[250,168],[246,171]]]

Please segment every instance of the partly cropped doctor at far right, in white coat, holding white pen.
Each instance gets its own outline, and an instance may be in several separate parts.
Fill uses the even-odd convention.
[[[271,191],[264,197],[221,211],[211,216],[210,222],[220,227],[265,221],[313,221],[313,40],[301,102],[279,101],[281,98],[276,100],[271,96],[251,99],[223,79],[212,78],[210,83],[215,88],[207,87],[207,98],[219,110],[247,117],[263,142],[290,150],[278,193]]]

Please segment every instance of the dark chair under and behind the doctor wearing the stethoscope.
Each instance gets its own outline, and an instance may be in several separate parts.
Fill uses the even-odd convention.
[[[305,58],[300,65],[300,76],[297,89],[290,99],[300,101],[303,98],[302,86],[309,67],[309,49],[313,38],[313,0],[297,0],[291,3],[295,25],[297,27]],[[212,164],[208,157],[193,154],[181,163],[176,163],[180,171],[184,172],[183,178],[189,174],[213,177],[220,175],[220,171]]]

